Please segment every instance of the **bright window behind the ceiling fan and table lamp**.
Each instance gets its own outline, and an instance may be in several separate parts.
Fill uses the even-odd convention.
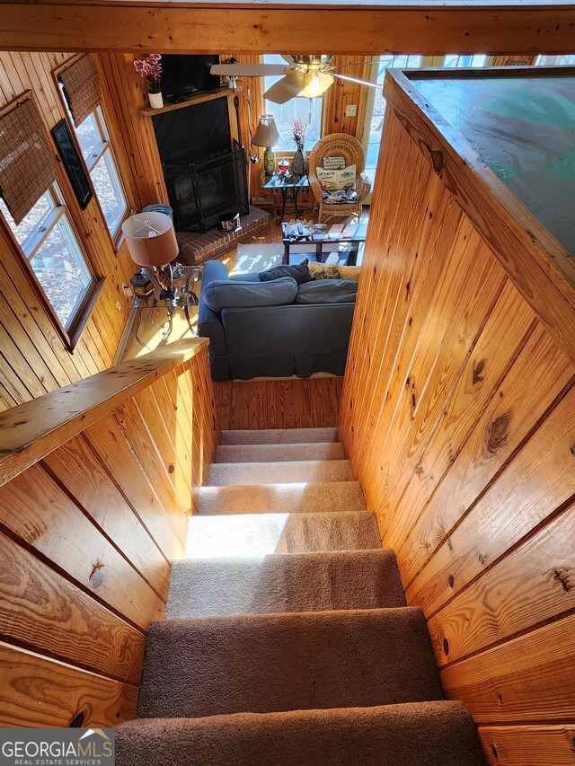
[[[266,55],[263,57],[264,64],[286,64],[281,56]],[[282,75],[264,77],[263,90],[266,92],[274,83],[281,79]],[[277,104],[273,101],[264,100],[264,110],[267,114],[273,114],[279,132],[279,144],[275,147],[280,151],[294,152],[296,144],[291,133],[291,121],[299,117],[307,122],[305,133],[305,146],[310,149],[316,141],[322,137],[322,110],[323,96],[316,99],[296,98],[290,99],[285,104]]]

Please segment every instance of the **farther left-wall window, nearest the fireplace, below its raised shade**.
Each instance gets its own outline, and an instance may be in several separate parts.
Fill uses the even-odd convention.
[[[66,102],[66,99],[64,100]],[[74,125],[74,120],[72,120]],[[102,107],[98,106],[75,128],[84,162],[90,173],[96,197],[102,207],[106,225],[114,239],[128,210],[116,161],[111,151],[110,137],[104,122]]]

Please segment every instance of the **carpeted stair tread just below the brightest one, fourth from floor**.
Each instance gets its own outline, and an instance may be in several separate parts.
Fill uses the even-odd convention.
[[[202,487],[199,514],[298,514],[365,511],[358,481]]]

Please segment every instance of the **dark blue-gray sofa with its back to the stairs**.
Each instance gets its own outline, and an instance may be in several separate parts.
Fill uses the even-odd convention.
[[[309,303],[314,300],[310,295],[318,295],[319,299],[320,293],[323,293],[325,301],[325,293],[337,291],[337,286],[324,284],[322,288],[318,283],[308,283],[309,287],[304,285],[298,288],[295,280],[284,277],[274,280],[276,284],[273,287],[281,305],[227,307],[224,297],[220,299],[224,305],[217,305],[217,310],[214,310],[213,295],[217,290],[222,295],[222,287],[229,291],[226,281],[245,283],[247,295],[250,289],[252,293],[258,292],[264,289],[264,285],[271,284],[260,283],[257,274],[230,277],[226,265],[219,260],[209,260],[204,266],[198,332],[200,336],[209,338],[208,355],[214,380],[250,380],[294,374],[306,378],[314,373],[344,373],[355,303],[341,303],[341,300],[352,300],[355,295],[348,298],[344,288],[343,292],[339,291],[339,296],[334,297],[339,303]],[[343,283],[346,280],[326,281]],[[289,285],[290,282],[293,286]],[[357,283],[346,284],[351,287],[350,294],[355,294]],[[238,287],[241,290],[241,286]],[[291,289],[293,294],[289,293]],[[235,287],[233,290],[237,295]],[[307,303],[296,303],[298,299]]]

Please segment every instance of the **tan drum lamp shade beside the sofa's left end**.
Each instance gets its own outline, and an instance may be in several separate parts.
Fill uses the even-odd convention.
[[[137,213],[122,224],[128,251],[138,266],[165,266],[180,252],[172,218],[165,213]]]

